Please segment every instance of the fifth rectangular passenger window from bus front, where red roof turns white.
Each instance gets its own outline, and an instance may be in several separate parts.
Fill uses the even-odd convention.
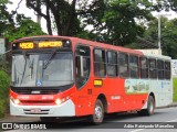
[[[140,78],[148,78],[148,61],[146,57],[140,57]]]

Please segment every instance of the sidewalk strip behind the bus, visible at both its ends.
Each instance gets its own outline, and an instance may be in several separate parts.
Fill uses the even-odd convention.
[[[171,105],[167,107],[162,107],[158,109],[170,108],[170,107],[177,107],[177,102],[173,102]],[[24,121],[25,122],[39,122],[40,118],[7,116],[6,118],[0,119],[0,123],[1,122],[24,122]]]

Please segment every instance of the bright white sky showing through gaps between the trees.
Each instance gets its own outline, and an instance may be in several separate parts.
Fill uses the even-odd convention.
[[[11,11],[11,10],[15,10],[18,8],[18,3],[20,0],[10,0],[12,1],[13,3],[12,4],[8,4],[8,10]],[[71,0],[69,0],[71,1]],[[25,16],[30,16],[33,21],[37,22],[37,16],[34,14],[34,11],[33,10],[30,10],[25,7],[25,0],[22,0],[22,2],[20,3],[20,8],[18,9],[18,13],[24,13]],[[159,14],[154,12],[153,13],[155,16],[158,16]],[[160,12],[160,15],[165,15],[167,16],[168,19],[174,19],[174,18],[177,18],[177,13],[170,11],[170,12]],[[42,26],[42,30],[48,33],[46,31],[46,22],[44,19],[41,20],[41,26]],[[56,33],[54,33],[56,34]]]

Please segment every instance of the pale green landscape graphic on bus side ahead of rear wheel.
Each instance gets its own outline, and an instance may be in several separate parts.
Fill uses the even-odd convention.
[[[147,80],[126,79],[126,94],[147,94],[149,91],[149,82]]]

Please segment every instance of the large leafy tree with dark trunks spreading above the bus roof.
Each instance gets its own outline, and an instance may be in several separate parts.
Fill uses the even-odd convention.
[[[49,34],[52,22],[58,35],[100,36],[106,43],[125,45],[143,34],[136,19],[149,20],[152,3],[147,0],[27,0],[27,6],[46,20]],[[41,7],[45,7],[42,12]],[[144,8],[140,8],[144,7]],[[51,19],[53,18],[53,20]],[[85,28],[93,25],[85,34]],[[83,35],[81,35],[84,33]],[[95,38],[96,40],[96,38]]]

